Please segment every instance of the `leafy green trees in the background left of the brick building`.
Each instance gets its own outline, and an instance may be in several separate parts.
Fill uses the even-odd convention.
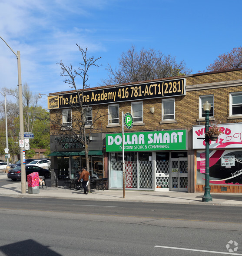
[[[8,126],[8,146],[10,155],[19,154],[19,107],[18,91],[3,88],[7,95],[17,103],[7,101],[7,126]],[[7,98],[10,98],[7,96]],[[30,139],[30,148],[50,149],[50,122],[49,112],[37,105],[38,97],[33,95],[27,84],[23,86],[23,121],[24,131],[30,131],[34,134],[34,139]],[[0,103],[0,138],[5,135],[5,112],[4,102]],[[0,145],[0,154],[4,154],[5,144]],[[30,152],[29,152],[30,153]],[[26,152],[27,155],[27,152]]]

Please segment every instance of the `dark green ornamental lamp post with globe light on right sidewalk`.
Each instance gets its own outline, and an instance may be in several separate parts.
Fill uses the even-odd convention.
[[[209,112],[211,109],[211,104],[206,101],[203,104],[203,110],[205,111],[205,187],[204,187],[204,195],[202,197],[202,202],[210,202],[212,201],[212,196],[210,194],[210,185],[209,185],[209,135],[207,132],[209,131]]]

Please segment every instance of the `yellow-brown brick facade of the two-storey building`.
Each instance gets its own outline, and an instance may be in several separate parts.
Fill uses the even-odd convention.
[[[143,123],[134,125],[132,132],[180,129],[190,131],[194,125],[205,125],[205,120],[199,118],[199,96],[210,94],[214,98],[213,118],[215,121],[222,124],[242,122],[242,117],[229,117],[229,94],[232,92],[242,92],[242,69],[193,74],[182,77],[186,79],[186,95],[170,97],[175,98],[175,121],[162,122],[162,98],[141,100],[143,102]],[[177,77],[169,79],[174,78]],[[131,113],[132,102],[116,103],[119,104],[119,126],[116,127],[109,127],[108,125],[108,104],[93,105],[93,116],[98,113],[103,117],[93,124],[92,133],[121,133],[122,111],[123,113]],[[155,109],[153,114],[150,112],[151,107]],[[73,111],[72,115],[75,116],[77,113],[77,111]],[[55,117],[56,110],[51,110],[50,119],[53,120]],[[56,125],[51,124],[51,135],[56,134],[56,128]],[[125,132],[130,131],[125,129]],[[188,148],[188,150],[190,150],[189,154],[193,154],[193,158],[195,158],[196,151],[192,150],[192,148]],[[194,162],[196,163],[195,160]],[[193,169],[190,169],[189,172],[191,172],[189,179],[192,179],[190,183],[194,184],[194,188],[190,188],[190,192],[203,192],[203,185],[196,185],[196,166],[194,165]],[[221,192],[220,187],[220,185],[211,185],[211,192]],[[226,192],[241,193],[242,186],[228,185]]]

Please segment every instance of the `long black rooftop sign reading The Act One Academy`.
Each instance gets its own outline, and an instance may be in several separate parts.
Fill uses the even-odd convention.
[[[84,91],[83,105],[174,97],[185,94],[186,79],[182,78]],[[48,96],[48,109],[71,108],[78,105],[79,99],[77,93]]]

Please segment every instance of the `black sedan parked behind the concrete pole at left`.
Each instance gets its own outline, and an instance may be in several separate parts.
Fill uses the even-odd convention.
[[[44,176],[46,179],[50,177],[50,171],[44,168],[41,168],[39,166],[35,165],[26,165],[25,166],[25,171],[26,171],[26,179],[27,175],[29,175],[32,172],[38,172],[39,176]],[[9,179],[12,179],[12,181],[16,181],[17,179],[21,179],[21,166],[17,166],[13,169],[11,169],[7,177]]]

